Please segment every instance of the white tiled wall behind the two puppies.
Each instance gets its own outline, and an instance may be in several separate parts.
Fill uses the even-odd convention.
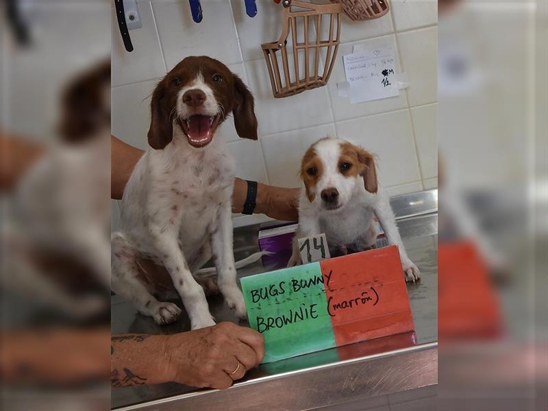
[[[285,99],[272,96],[260,48],[279,37],[282,5],[257,0],[255,18],[245,14],[242,0],[201,0],[201,5],[203,21],[197,24],[186,0],[138,1],[143,26],[130,32],[133,53],[123,49],[117,27],[112,30],[114,135],[146,148],[155,82],[187,55],[210,55],[238,73],[256,98],[258,142],[238,138],[232,120],[219,129],[236,158],[239,177],[298,186],[304,151],[319,138],[338,135],[377,154],[379,179],[390,195],[437,186],[436,1],[392,1],[390,13],[373,21],[343,16],[341,45],[327,87]],[[399,97],[360,104],[338,97],[336,83],[345,80],[343,55],[364,42],[397,50],[398,69],[410,80]],[[253,221],[235,216],[236,225]]]

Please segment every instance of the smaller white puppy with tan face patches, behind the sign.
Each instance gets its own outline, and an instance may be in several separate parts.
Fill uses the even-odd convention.
[[[297,238],[325,233],[332,255],[375,247],[375,215],[388,243],[399,249],[406,281],[421,277],[403,247],[390,200],[377,182],[371,153],[340,138],[323,138],[303,156],[301,177],[299,228],[288,266],[302,264]]]

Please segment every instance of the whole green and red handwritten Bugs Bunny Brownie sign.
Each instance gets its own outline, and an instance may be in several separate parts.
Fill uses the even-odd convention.
[[[397,247],[243,277],[264,362],[414,329]]]

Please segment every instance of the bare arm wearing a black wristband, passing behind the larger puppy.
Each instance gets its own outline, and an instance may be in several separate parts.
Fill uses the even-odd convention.
[[[145,151],[112,136],[111,196],[121,199],[125,184]],[[247,198],[247,182],[236,178],[232,194],[232,212],[242,212]],[[255,214],[266,214],[277,220],[297,221],[299,188],[282,188],[258,184]]]

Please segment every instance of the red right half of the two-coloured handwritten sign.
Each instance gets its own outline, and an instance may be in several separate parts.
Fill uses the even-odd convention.
[[[396,246],[320,262],[336,345],[414,329]]]

